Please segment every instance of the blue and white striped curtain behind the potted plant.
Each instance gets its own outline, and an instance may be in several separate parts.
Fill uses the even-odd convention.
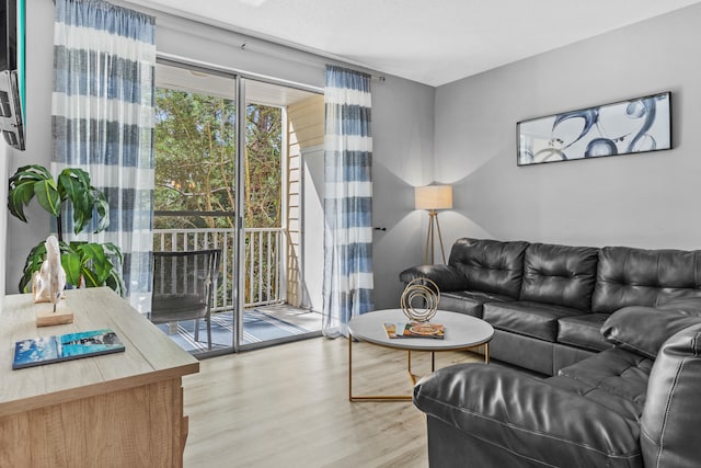
[[[110,227],[89,240],[122,249],[127,295],[142,311],[153,246],[154,69],[152,16],[100,0],[56,0],[51,172],[81,168],[105,193]]]

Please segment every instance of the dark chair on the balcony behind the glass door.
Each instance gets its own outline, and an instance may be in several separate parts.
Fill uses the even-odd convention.
[[[199,319],[207,322],[207,349],[211,350],[211,300],[217,289],[221,250],[153,252],[153,296],[151,322],[195,320],[195,342],[199,341]]]

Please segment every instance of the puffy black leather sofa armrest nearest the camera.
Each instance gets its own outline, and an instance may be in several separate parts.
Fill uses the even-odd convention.
[[[516,370],[446,367],[416,384],[414,404],[516,458],[549,466],[642,466],[636,421]]]

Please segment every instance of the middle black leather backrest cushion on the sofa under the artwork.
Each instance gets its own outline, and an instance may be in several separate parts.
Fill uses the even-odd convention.
[[[591,309],[599,250],[531,243],[524,256],[521,300]]]

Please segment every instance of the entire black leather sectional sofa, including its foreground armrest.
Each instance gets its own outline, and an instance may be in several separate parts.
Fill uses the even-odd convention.
[[[432,467],[700,466],[701,251],[461,239],[415,276],[495,327],[492,356],[545,374],[418,381]]]

